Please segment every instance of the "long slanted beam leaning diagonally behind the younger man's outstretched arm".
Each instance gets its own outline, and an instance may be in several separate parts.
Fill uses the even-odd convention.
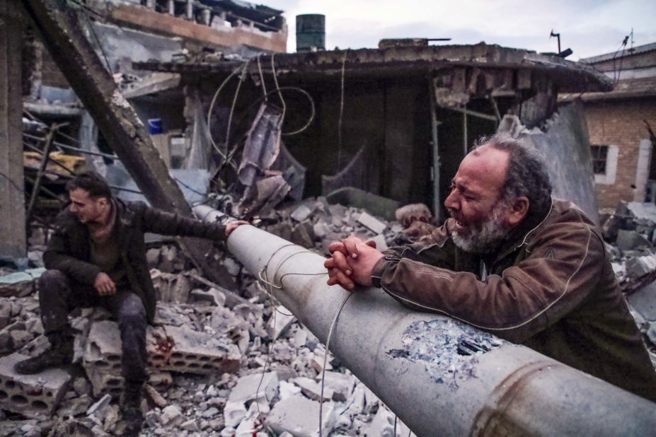
[[[169,175],[134,108],[100,62],[71,4],[58,0],[23,0],[23,5],[42,33],[57,67],[146,199],[156,208],[190,216],[192,211],[182,190]],[[209,269],[207,266],[205,256],[209,252],[209,242],[182,238],[181,245],[205,276],[234,289],[234,281],[223,267]]]

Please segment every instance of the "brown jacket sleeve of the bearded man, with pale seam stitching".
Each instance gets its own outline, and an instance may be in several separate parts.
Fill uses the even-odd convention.
[[[399,257],[381,259],[372,281],[402,303],[521,343],[585,301],[606,257],[602,240],[585,224],[550,226],[529,249],[525,260],[485,281]]]

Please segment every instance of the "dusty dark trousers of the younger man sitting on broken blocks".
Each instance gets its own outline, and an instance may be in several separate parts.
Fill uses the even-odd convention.
[[[121,332],[122,376],[127,382],[148,379],[146,364],[146,309],[136,294],[117,290],[113,296],[98,296],[93,287],[71,280],[59,270],[47,270],[39,279],[41,322],[47,337],[68,330],[68,314],[74,308],[102,306],[118,320]]]

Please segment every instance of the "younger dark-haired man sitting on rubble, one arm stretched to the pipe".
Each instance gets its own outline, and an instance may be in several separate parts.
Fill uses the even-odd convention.
[[[16,363],[18,373],[39,373],[71,363],[73,336],[68,313],[99,305],[118,320],[125,388],[122,415],[126,433],[142,428],[141,390],[148,379],[146,322],[155,315],[144,233],[225,240],[245,221],[228,226],[152,209],[142,202],[113,197],[100,175],[81,173],[67,184],[70,204],[57,216],[54,234],[43,254],[48,269],[39,279],[39,305],[50,348]]]

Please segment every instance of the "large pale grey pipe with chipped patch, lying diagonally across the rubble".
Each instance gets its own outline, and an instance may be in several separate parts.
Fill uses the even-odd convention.
[[[253,274],[282,281],[275,297],[325,344],[347,291],[326,285],[324,258],[253,226],[239,226],[227,245]],[[413,312],[379,289],[346,302],[330,351],[418,436],[656,429],[656,404],[449,317]]]

